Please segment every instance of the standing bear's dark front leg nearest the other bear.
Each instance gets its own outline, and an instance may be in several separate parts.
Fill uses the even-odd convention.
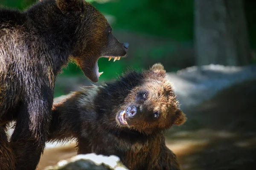
[[[11,137],[16,170],[35,170],[44,151],[53,102],[53,97],[47,94],[47,91],[31,93],[17,116]]]

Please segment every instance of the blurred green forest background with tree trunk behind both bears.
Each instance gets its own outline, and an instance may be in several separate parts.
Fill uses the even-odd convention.
[[[100,81],[116,78],[127,67],[148,68],[156,62],[163,63],[168,72],[211,63],[256,63],[253,52],[256,48],[256,1],[87,1],[105,15],[117,39],[130,44],[125,59],[116,62],[99,59],[99,71],[104,71]],[[0,5],[25,9],[35,2],[0,0]],[[229,36],[225,37],[227,34]],[[74,63],[63,70],[59,77],[86,79]],[[64,93],[61,87],[55,89],[55,96]]]

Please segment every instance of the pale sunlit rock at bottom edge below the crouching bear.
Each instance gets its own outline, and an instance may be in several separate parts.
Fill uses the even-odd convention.
[[[117,156],[103,156],[95,153],[80,154],[59,161],[44,170],[128,170]]]

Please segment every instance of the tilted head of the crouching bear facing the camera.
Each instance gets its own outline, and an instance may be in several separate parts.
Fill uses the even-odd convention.
[[[95,103],[98,112],[105,112],[102,124],[112,130],[148,134],[182,125],[186,116],[166,76],[163,65],[155,64],[149,70],[129,71],[106,83]]]

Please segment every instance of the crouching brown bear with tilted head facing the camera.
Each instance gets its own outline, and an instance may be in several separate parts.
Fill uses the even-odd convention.
[[[155,64],[53,105],[48,139],[75,138],[79,154],[116,155],[131,170],[179,170],[164,133],[185,121],[163,65]]]

